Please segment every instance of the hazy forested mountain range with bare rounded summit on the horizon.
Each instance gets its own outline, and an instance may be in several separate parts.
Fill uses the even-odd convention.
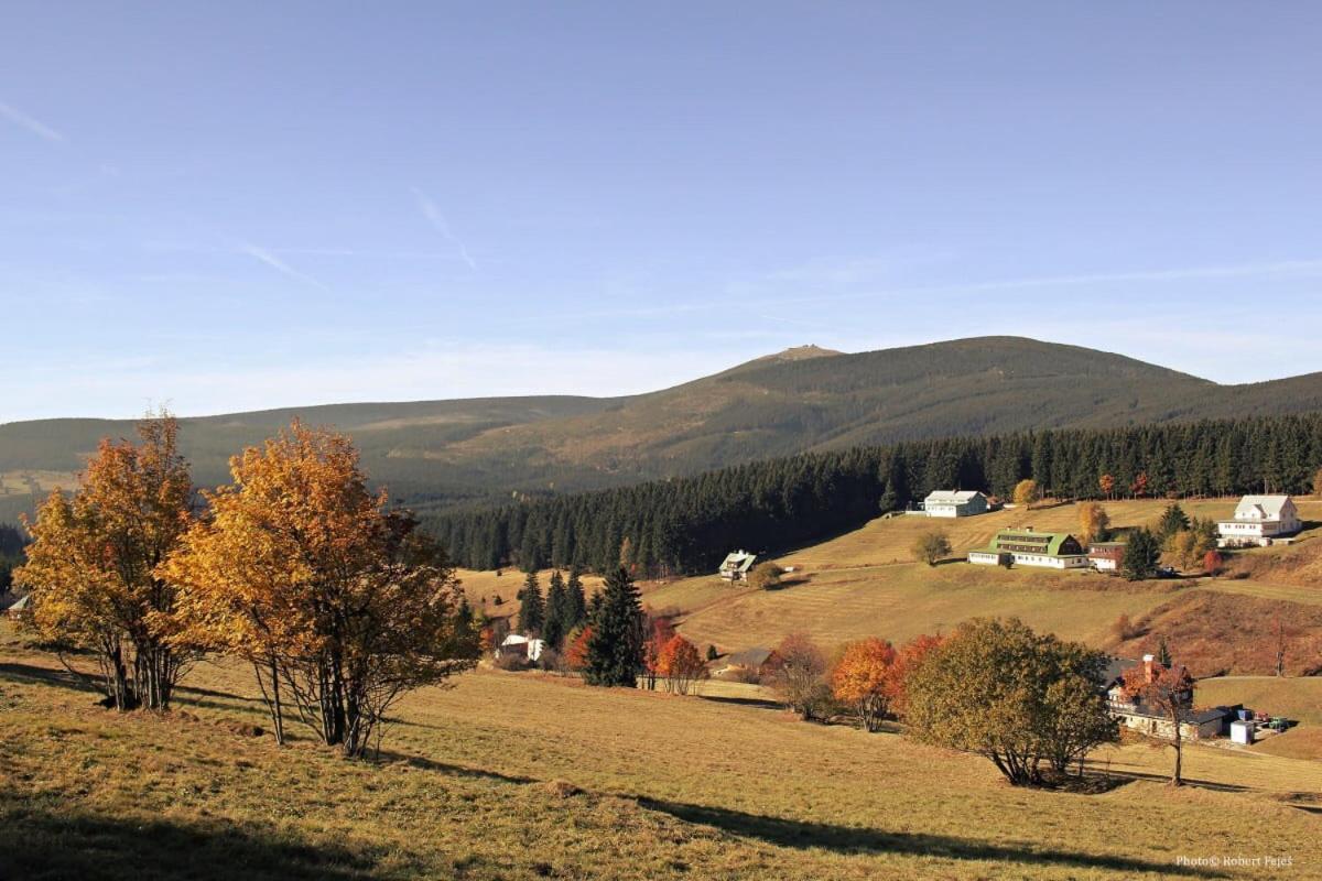
[[[186,402],[177,402],[186,409]],[[1215,383],[1076,346],[985,337],[839,354],[813,346],[631,398],[342,404],[184,423],[202,485],[293,415],[353,436],[371,477],[419,509],[600,489],[810,450],[1054,427],[1322,409],[1322,375]],[[127,421],[0,425],[0,520],[69,483]]]

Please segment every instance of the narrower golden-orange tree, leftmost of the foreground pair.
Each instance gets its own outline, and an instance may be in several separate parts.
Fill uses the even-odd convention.
[[[175,585],[156,571],[193,516],[178,423],[148,416],[137,435],[139,444],[103,440],[81,487],[50,494],[15,573],[32,592],[25,626],[56,647],[93,651],[122,711],[169,708],[194,656],[176,639]]]

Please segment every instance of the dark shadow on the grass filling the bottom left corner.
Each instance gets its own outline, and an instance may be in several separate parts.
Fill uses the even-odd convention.
[[[358,881],[375,857],[255,826],[58,812],[0,791],[0,878]]]

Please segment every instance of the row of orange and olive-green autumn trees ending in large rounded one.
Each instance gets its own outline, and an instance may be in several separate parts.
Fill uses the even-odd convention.
[[[915,738],[986,756],[1017,786],[1083,773],[1118,737],[1103,693],[1107,655],[1018,619],[973,619],[896,649],[870,638],[828,659],[808,637],[776,647],[769,684],[804,720],[849,712],[867,730],[902,720]]]

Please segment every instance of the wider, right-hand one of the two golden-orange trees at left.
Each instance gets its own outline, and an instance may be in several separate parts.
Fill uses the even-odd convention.
[[[476,663],[459,582],[342,435],[295,421],[230,470],[161,569],[181,588],[181,638],[254,666],[278,737],[287,695],[317,737],[362,756],[402,695]]]

